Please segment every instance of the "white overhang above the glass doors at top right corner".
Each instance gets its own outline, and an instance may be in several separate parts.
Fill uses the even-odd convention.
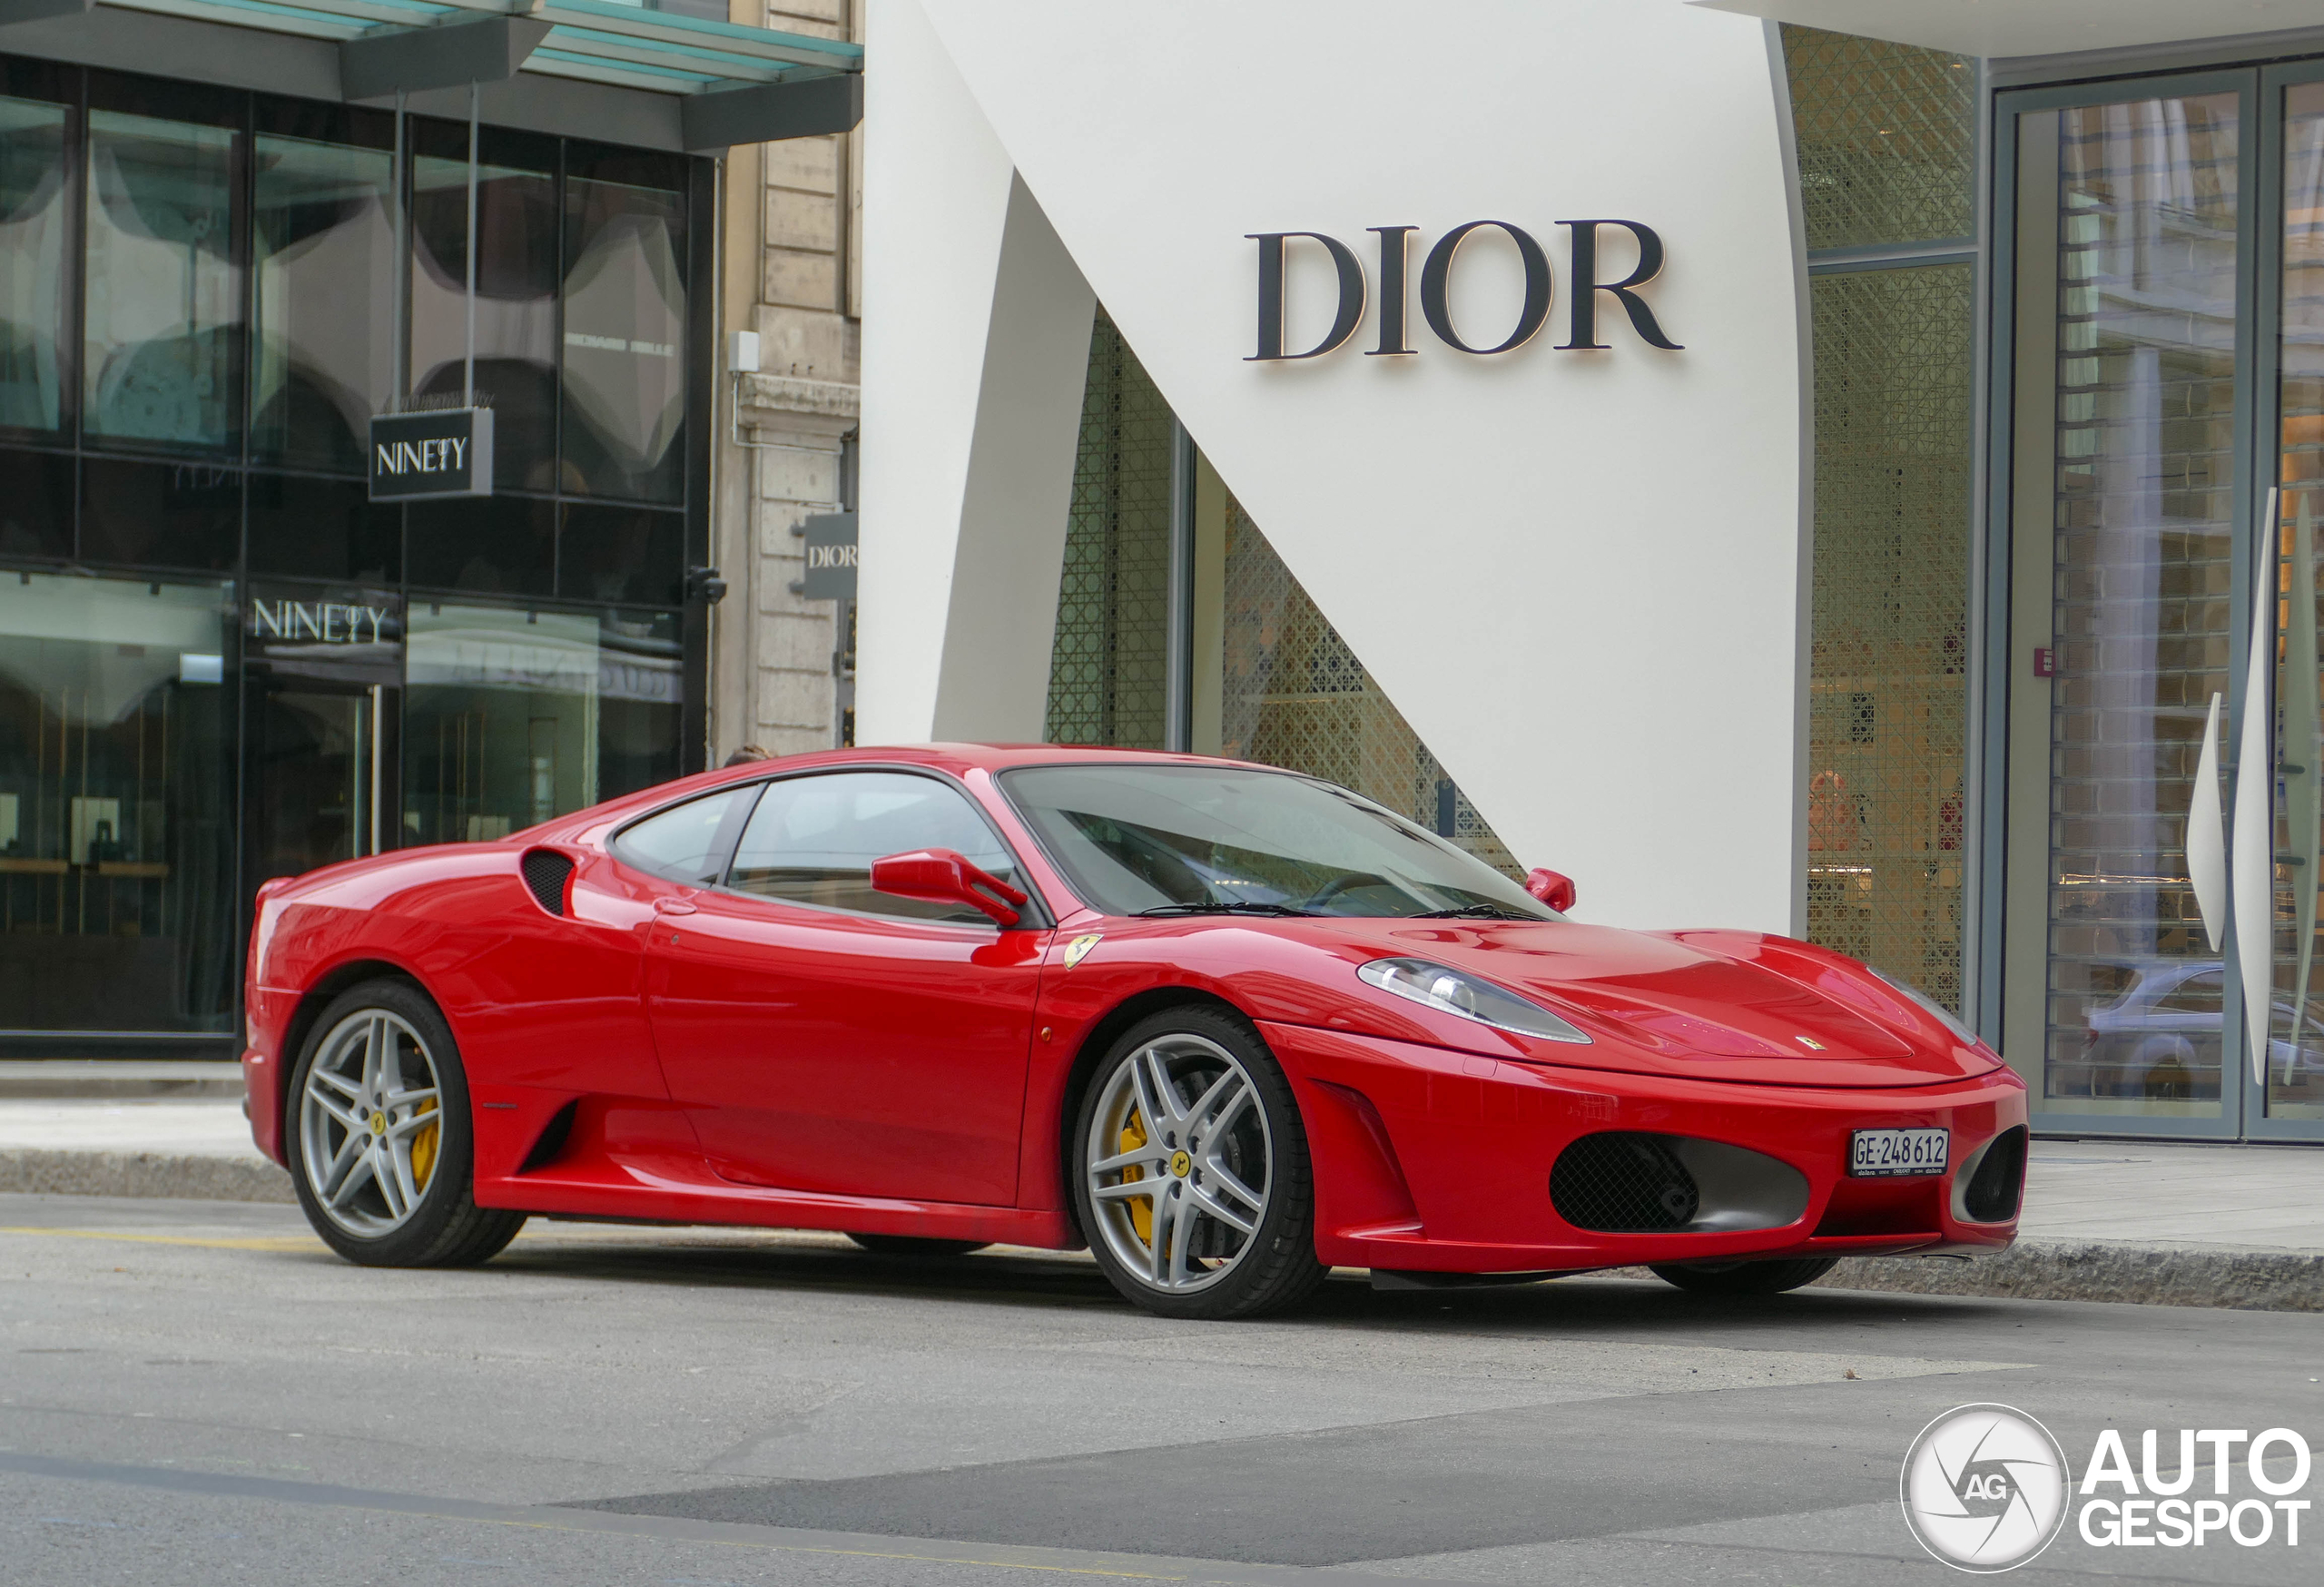
[[[1957,56],[2061,56],[2324,28],[2324,0],[1687,0],[1710,12],[1924,44]]]

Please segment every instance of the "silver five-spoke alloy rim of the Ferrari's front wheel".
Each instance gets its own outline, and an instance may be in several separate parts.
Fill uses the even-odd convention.
[[[1215,1041],[1174,1032],[1099,1087],[1083,1143],[1095,1234],[1150,1290],[1208,1290],[1267,1222],[1276,1152],[1250,1073]]]

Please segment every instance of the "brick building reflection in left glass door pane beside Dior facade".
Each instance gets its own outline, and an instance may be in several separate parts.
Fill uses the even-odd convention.
[[[2057,198],[2043,1092],[2075,1113],[2217,1118],[2219,960],[2185,823],[2229,676],[2236,95],[2020,125],[2050,116],[2052,139],[2022,137],[2024,179]],[[2054,167],[2031,170],[2045,146]]]

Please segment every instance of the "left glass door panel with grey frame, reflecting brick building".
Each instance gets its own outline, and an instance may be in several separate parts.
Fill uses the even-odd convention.
[[[2205,727],[2238,704],[2254,88],[2217,72],[2003,100],[2003,1050],[2050,1127],[2240,1122],[2226,920],[2205,922],[2189,811]]]

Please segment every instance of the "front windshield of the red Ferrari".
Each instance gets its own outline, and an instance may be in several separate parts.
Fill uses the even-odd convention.
[[[1236,767],[1025,767],[1002,788],[1092,909],[1562,920],[1346,788]]]

